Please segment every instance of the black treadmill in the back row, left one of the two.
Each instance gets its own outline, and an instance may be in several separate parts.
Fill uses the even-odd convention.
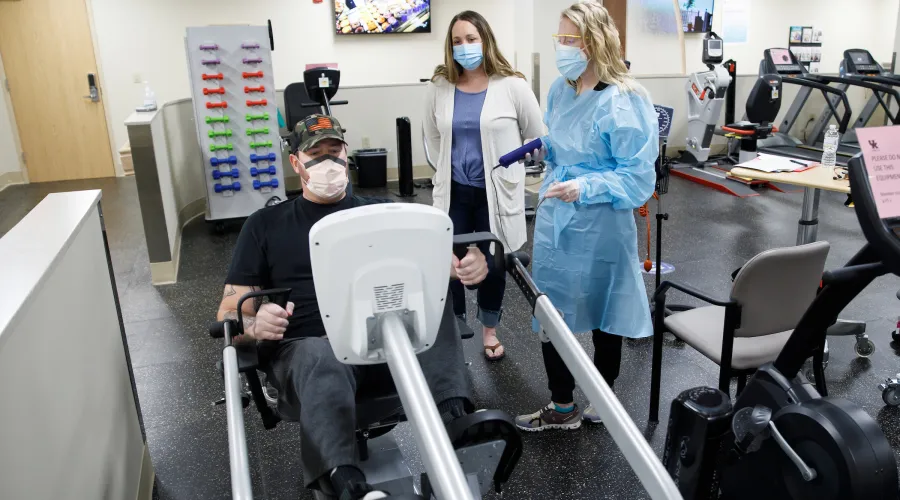
[[[763,60],[759,63],[759,74],[777,74],[781,76],[782,83],[803,87],[791,104],[781,125],[778,126],[778,131],[771,137],[759,141],[759,151],[798,160],[820,161],[822,159],[821,149],[803,144],[791,137],[789,133],[800,116],[800,111],[806,104],[809,94],[813,90],[818,90],[825,97],[825,103],[828,105],[831,116],[838,120],[838,132],[843,136],[850,125],[850,116],[853,113],[850,109],[850,101],[847,100],[847,93],[820,80],[822,77],[810,75],[797,60],[797,56],[788,49],[766,49],[763,53]],[[833,97],[834,101],[830,97]],[[838,113],[838,103],[844,105],[843,113]],[[846,167],[852,156],[853,154],[838,151],[837,164]]]

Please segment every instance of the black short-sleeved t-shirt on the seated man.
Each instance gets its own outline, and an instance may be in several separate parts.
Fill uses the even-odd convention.
[[[327,215],[376,203],[390,200],[347,196],[320,205],[299,197],[257,211],[241,229],[225,283],[292,289],[294,314],[284,338],[324,336],[309,260],[309,231]]]

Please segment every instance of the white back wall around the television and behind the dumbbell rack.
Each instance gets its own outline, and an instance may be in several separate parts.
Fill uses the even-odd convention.
[[[275,32],[275,86],[302,81],[307,63],[337,62],[343,87],[413,83],[431,76],[443,60],[447,23],[473,9],[494,29],[501,50],[512,56],[515,0],[437,0],[432,33],[396,36],[336,36],[333,2],[310,0],[90,0],[102,84],[116,144],[124,144],[123,122],[150,82],[159,102],[189,97],[184,32],[210,24],[265,25]],[[390,113],[391,103],[383,102]],[[395,115],[397,116],[397,115]]]

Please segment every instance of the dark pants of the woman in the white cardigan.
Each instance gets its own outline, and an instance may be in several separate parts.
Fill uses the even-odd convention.
[[[491,215],[488,210],[487,190],[453,182],[450,185],[450,219],[453,220],[453,234],[490,231]],[[506,274],[494,269],[490,244],[479,244],[478,248],[488,258],[487,278],[478,287],[478,320],[488,328],[500,322],[503,292],[506,290]],[[466,314],[466,289],[459,281],[450,284],[453,292],[453,312],[457,316]]]

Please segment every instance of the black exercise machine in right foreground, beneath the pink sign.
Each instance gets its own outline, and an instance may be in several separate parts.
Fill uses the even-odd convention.
[[[897,462],[878,423],[798,377],[844,307],[876,277],[900,275],[900,220],[879,216],[861,156],[849,169],[868,243],[843,268],[825,273],[778,358],[756,372],[734,405],[711,388],[687,391],[672,403],[664,462],[685,497],[898,497]]]

